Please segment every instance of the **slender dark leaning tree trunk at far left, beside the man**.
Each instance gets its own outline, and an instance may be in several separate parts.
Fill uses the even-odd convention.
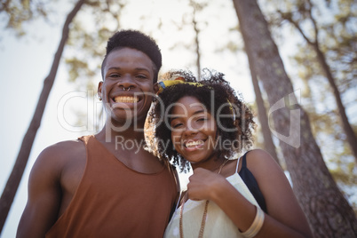
[[[22,178],[23,172],[25,170],[26,164],[28,163],[28,156],[31,152],[32,145],[34,143],[36,133],[40,127],[42,117],[44,115],[44,107],[46,106],[47,99],[49,97],[54,79],[59,68],[59,60],[62,56],[65,44],[67,42],[69,34],[69,25],[75,18],[76,13],[81,9],[85,0],[79,0],[73,10],[67,15],[67,19],[62,29],[62,38],[59,43],[59,47],[54,56],[50,74],[44,79],[44,87],[41,91],[40,98],[38,99],[35,114],[32,117],[31,123],[28,126],[28,131],[26,132],[24,138],[22,139],[22,144],[20,147],[19,155],[16,162],[12,168],[12,173],[7,180],[6,186],[4,187],[4,192],[0,198],[0,233],[3,231],[4,223],[12,206],[13,198],[18,190],[20,180]]]

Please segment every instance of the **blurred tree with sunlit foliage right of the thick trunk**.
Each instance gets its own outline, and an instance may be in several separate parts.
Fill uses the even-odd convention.
[[[357,180],[353,152],[357,127],[353,117],[346,120],[342,111],[353,112],[357,101],[357,4],[353,0],[265,2],[274,6],[266,9],[274,36],[286,41],[281,32],[287,28],[299,39],[289,60],[296,68],[291,78],[302,88],[313,136],[329,171],[345,196],[351,197]],[[353,207],[357,211],[355,202]]]

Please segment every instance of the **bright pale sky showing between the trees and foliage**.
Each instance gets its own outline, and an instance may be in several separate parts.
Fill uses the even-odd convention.
[[[164,0],[135,1],[140,2],[140,8],[136,7],[137,4],[133,4],[123,12],[123,15],[126,16],[122,22],[123,28],[139,28],[142,25],[142,22],[139,22],[138,19],[140,11],[163,18],[178,19],[182,16],[180,15],[182,13],[180,13],[182,10],[180,1],[172,1],[170,4],[170,1]],[[220,2],[217,0],[211,3],[218,4]],[[28,35],[21,39],[4,30],[0,35],[0,82],[4,89],[4,101],[0,104],[3,115],[0,117],[3,135],[0,143],[0,150],[3,152],[0,157],[0,191],[3,191],[6,180],[12,171],[12,166],[20,150],[20,143],[35,112],[44,78],[48,75],[52,65],[52,59],[59,44],[62,24],[66,13],[71,8],[71,5],[65,3],[61,1],[61,4],[59,4],[55,16],[52,18],[54,19],[52,23],[39,20],[34,24],[27,25]],[[247,102],[253,102],[254,93],[245,56],[232,56],[227,53],[217,54],[214,52],[214,49],[220,46],[219,39],[225,36],[220,20],[226,22],[226,26],[231,28],[237,24],[233,5],[231,8],[226,8],[225,11],[219,13],[219,16],[224,16],[223,18],[211,20],[210,25],[203,27],[209,30],[202,33],[202,51],[204,49],[210,49],[210,51],[204,51],[202,66],[215,68],[225,73],[227,80],[232,83],[234,89],[242,92]],[[135,14],[131,12],[135,12]],[[214,12],[208,12],[208,17],[214,18]],[[170,22],[170,20],[167,22]],[[155,24],[150,24],[148,21],[147,26],[147,28],[150,28]],[[238,33],[236,36],[238,36]],[[170,68],[185,68],[187,61],[194,60],[190,59],[190,54],[187,54],[186,51],[170,49],[171,43],[177,38],[190,42],[192,33],[178,33],[173,26],[167,24],[162,32],[155,33],[154,38],[157,39],[162,48],[162,72]],[[237,40],[240,39],[237,38]],[[291,48],[289,44],[282,45],[282,47],[285,47],[282,48],[282,52],[286,52],[284,49]],[[287,54],[283,54],[282,57],[287,58]],[[289,70],[289,66],[286,67]],[[29,156],[27,168],[1,234],[2,238],[15,237],[20,215],[27,200],[28,174],[39,153],[45,147],[61,140],[76,139],[83,134],[95,133],[91,130],[91,124],[75,124],[76,117],[74,114],[78,108],[87,108],[90,112],[88,116],[91,119],[92,108],[87,105],[91,105],[92,101],[86,97],[86,91],[75,91],[75,85],[68,83],[67,79],[67,67],[62,61],[44,111],[41,127],[37,132]],[[99,80],[100,78],[98,82]],[[94,101],[94,104],[96,103],[98,101]]]

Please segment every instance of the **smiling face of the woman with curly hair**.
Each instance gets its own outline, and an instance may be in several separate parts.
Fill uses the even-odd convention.
[[[202,102],[191,96],[178,99],[170,116],[172,143],[193,167],[216,155],[217,123]]]

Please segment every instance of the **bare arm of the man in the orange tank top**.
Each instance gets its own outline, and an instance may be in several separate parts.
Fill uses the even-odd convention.
[[[44,237],[58,218],[61,201],[59,151],[48,147],[38,156],[28,178],[28,202],[17,237]]]

